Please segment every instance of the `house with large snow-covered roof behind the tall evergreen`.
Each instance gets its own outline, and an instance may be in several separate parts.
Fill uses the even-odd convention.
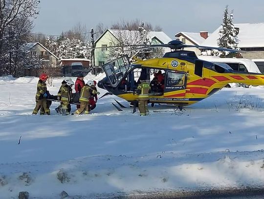
[[[264,22],[262,23],[235,23],[238,33],[238,47],[252,53],[242,53],[243,58],[264,59]],[[218,47],[220,25],[203,43],[205,46]]]

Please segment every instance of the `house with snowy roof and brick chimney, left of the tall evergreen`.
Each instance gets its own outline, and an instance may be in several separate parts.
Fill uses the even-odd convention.
[[[201,32],[178,32],[175,34],[176,39],[187,45],[201,45],[209,36],[207,31]],[[198,48],[186,48],[194,51],[197,55],[201,53]]]

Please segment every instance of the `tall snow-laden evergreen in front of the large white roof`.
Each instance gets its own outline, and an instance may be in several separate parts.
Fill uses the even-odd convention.
[[[238,31],[236,30],[233,24],[233,10],[229,14],[228,5],[226,5],[224,14],[223,14],[223,22],[222,27],[219,30],[220,38],[217,40],[217,44],[220,47],[237,49],[238,47]],[[226,56],[228,52],[224,53]]]

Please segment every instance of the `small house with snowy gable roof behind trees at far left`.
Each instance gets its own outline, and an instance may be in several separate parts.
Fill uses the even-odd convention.
[[[43,59],[43,65],[50,64],[51,66],[57,66],[59,58],[54,55],[50,50],[48,50],[43,44],[39,42],[27,43],[26,48],[32,55],[40,55],[40,57]]]

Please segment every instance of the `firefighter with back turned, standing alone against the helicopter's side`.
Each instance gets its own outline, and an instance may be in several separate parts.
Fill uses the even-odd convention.
[[[141,84],[138,85],[136,93],[138,94],[138,109],[140,116],[149,115],[148,101],[150,83],[149,80],[140,80]]]

